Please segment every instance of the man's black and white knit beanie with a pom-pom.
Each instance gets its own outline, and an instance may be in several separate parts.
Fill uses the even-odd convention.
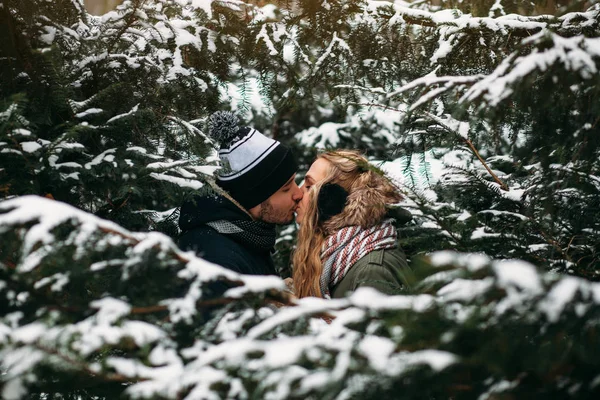
[[[232,112],[212,114],[208,130],[220,144],[223,168],[217,184],[246,209],[267,200],[298,170],[289,148],[256,129],[239,127]]]

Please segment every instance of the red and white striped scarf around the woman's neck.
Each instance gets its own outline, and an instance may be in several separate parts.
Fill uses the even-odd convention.
[[[321,249],[323,271],[319,281],[323,297],[331,298],[329,288],[337,285],[360,258],[375,250],[397,246],[398,234],[392,222],[386,220],[369,229],[348,226],[325,240]]]

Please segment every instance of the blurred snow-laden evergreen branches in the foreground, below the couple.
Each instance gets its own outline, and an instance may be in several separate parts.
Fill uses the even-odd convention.
[[[453,252],[430,256],[435,279],[423,280],[414,295],[361,288],[346,299],[273,308],[264,299],[285,299],[278,278],[238,275],[179,251],[163,235],[128,232],[37,197],[0,203],[0,246],[7,243],[16,247],[0,252],[8,306],[0,316],[4,398],[23,398],[48,370],[81,378],[67,390],[124,383],[115,397],[364,398],[373,388],[389,397],[388,388],[401,385],[411,398],[434,381],[436,397],[448,393],[443,382],[478,397],[487,386],[465,377],[491,384],[519,375],[513,365],[473,357],[460,345],[465,334],[495,348],[529,332],[531,345],[519,347],[519,356],[531,357],[559,326],[561,337],[575,341],[571,349],[578,338],[595,337],[588,336],[595,322],[566,321],[597,321],[600,311],[600,284]],[[35,284],[58,271],[68,280],[58,292]],[[583,382],[580,371],[591,366],[558,357],[555,365],[569,363],[571,382]],[[546,381],[544,390],[563,382]],[[526,385],[515,380],[509,388]]]

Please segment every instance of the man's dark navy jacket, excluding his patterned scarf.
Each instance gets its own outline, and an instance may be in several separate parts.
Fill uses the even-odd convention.
[[[179,247],[194,250],[205,260],[242,274],[277,275],[269,250],[221,234],[206,225],[219,220],[252,221],[252,218],[217,194],[195,196],[185,202],[179,216]],[[275,226],[272,228],[275,235]]]

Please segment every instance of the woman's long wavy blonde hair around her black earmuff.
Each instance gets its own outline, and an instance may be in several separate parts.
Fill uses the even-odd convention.
[[[295,294],[298,297],[323,297],[319,286],[321,248],[325,239],[346,226],[370,228],[382,222],[386,205],[402,200],[398,188],[383,172],[369,165],[368,160],[354,150],[328,151],[317,156],[329,161],[328,171],[306,193],[309,196],[304,219],[298,232],[298,243],[292,258]],[[344,210],[319,223],[317,198],[321,187],[335,183],[348,192]]]

